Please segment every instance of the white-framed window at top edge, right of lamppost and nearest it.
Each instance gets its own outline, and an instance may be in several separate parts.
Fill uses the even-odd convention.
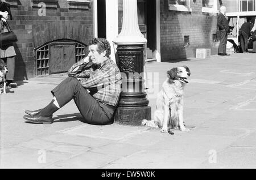
[[[169,0],[169,10],[191,12],[190,0]]]

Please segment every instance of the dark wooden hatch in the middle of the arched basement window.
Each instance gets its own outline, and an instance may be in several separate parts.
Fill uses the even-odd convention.
[[[75,62],[75,42],[50,44],[49,74],[67,72]]]

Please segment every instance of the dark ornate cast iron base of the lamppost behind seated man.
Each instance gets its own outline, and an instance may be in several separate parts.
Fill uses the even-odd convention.
[[[143,85],[143,52],[143,45],[117,47],[117,66],[123,79],[121,97],[115,110],[116,123],[139,126],[142,119],[151,119],[151,107]]]

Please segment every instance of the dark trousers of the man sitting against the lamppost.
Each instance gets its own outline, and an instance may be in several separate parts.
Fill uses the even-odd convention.
[[[51,92],[56,97],[60,108],[73,99],[84,117],[83,122],[93,125],[113,123],[114,110],[95,100],[76,78],[64,79]]]

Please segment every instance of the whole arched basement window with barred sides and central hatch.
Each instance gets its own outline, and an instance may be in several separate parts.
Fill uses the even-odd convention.
[[[87,45],[72,40],[54,40],[39,46],[35,51],[35,75],[67,72],[89,53]]]

